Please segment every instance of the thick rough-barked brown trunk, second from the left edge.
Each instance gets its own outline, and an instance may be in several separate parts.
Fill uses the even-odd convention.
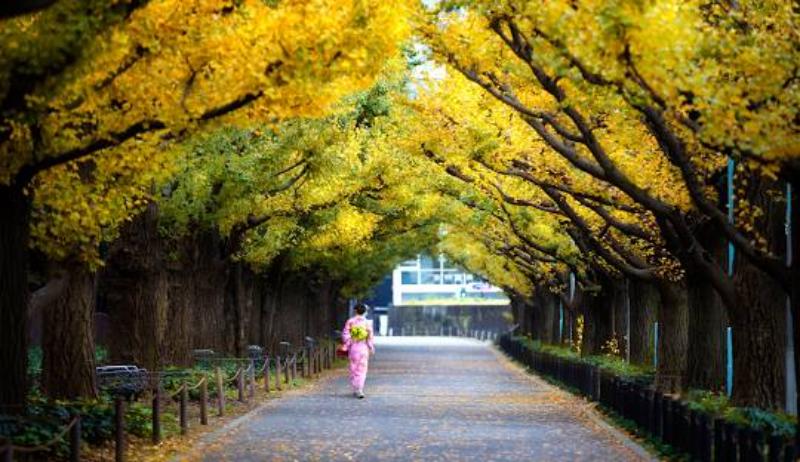
[[[64,268],[65,287],[44,309],[42,389],[49,398],[97,396],[94,312],[97,275],[77,263]]]

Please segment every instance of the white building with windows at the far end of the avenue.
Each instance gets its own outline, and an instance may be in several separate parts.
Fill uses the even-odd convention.
[[[444,255],[418,255],[392,272],[392,304],[507,305],[502,289],[451,266]]]

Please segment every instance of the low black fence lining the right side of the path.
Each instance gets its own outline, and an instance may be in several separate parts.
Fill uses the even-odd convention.
[[[794,462],[797,458],[793,442],[784,436],[690,409],[647,384],[612,375],[592,364],[531,350],[509,335],[501,336],[499,344],[509,356],[535,372],[600,402],[693,460]]]

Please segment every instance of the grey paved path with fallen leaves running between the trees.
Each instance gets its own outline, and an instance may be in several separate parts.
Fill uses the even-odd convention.
[[[364,400],[344,371],[270,401],[182,460],[647,460],[575,397],[471,339],[379,339]]]

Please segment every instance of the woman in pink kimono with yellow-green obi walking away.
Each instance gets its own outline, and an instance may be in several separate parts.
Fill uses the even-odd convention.
[[[350,359],[350,386],[353,387],[353,395],[363,399],[369,356],[375,354],[375,345],[372,340],[372,323],[364,317],[367,305],[359,303],[354,310],[356,315],[344,324],[342,343]]]

